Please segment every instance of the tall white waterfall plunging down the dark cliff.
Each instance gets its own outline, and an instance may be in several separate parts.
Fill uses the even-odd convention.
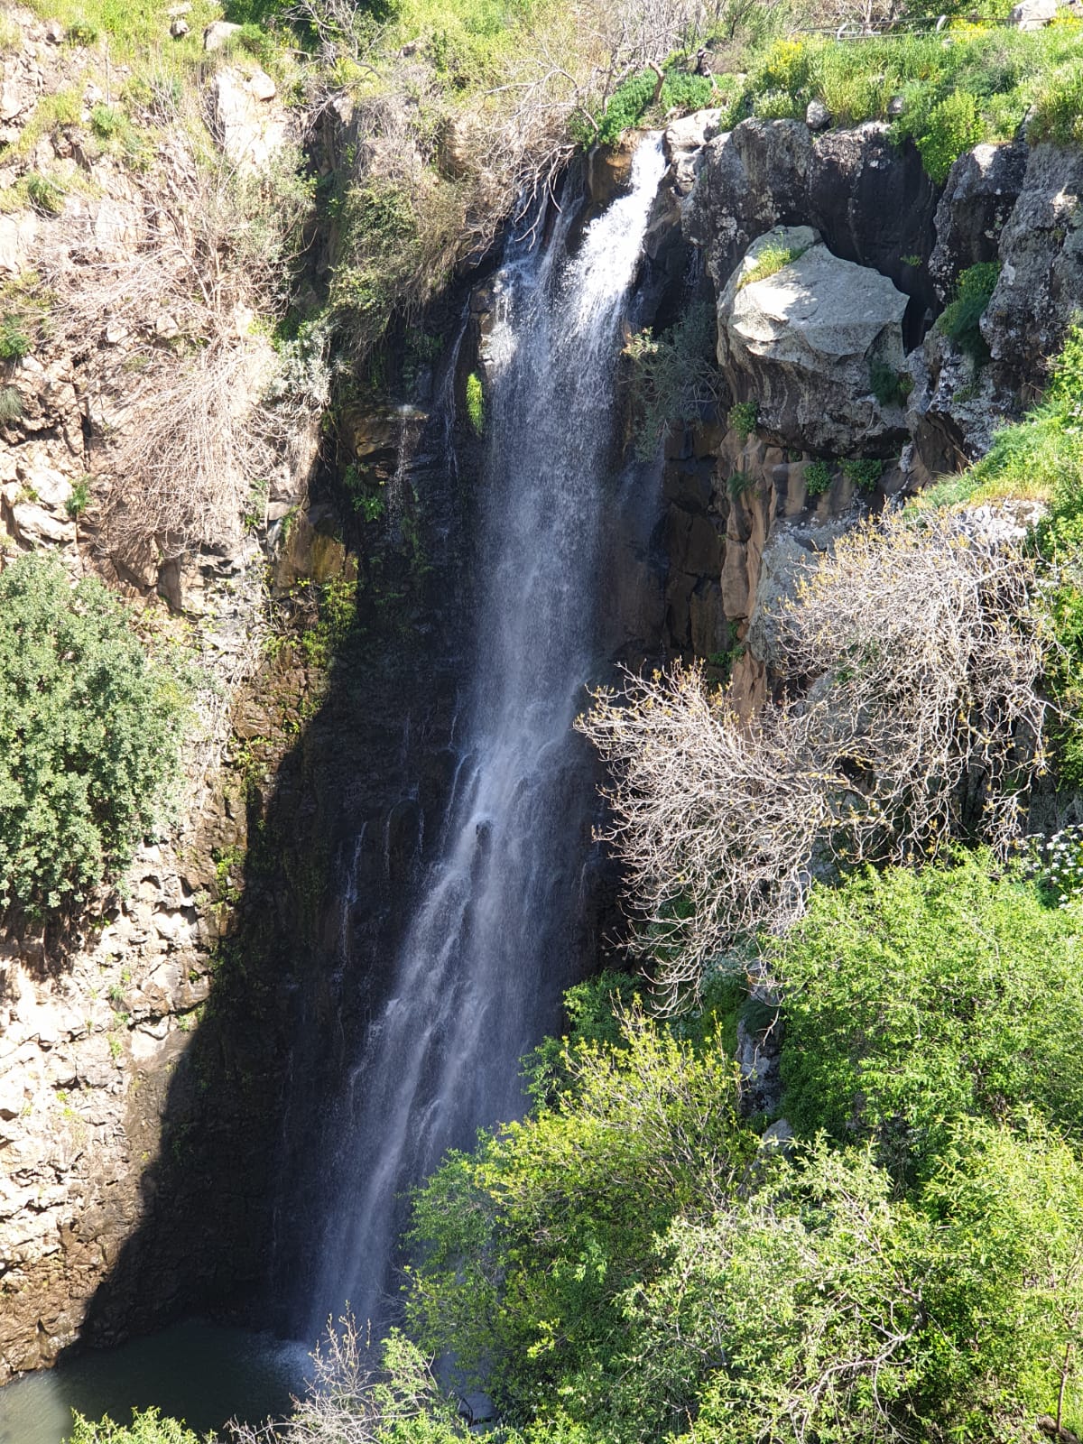
[[[523,1109],[518,1058],[573,980],[595,800],[572,721],[598,669],[621,322],[664,170],[638,147],[631,192],[566,253],[513,244],[495,280],[485,396],[477,654],[436,861],[339,1106],[349,1158],[312,1279],[309,1336],[348,1300],[386,1317],[401,1190],[449,1147]]]

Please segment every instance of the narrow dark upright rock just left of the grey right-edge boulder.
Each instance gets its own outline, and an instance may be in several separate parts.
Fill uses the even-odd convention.
[[[959,273],[996,258],[1001,232],[1012,214],[1027,172],[1022,142],[975,146],[947,176],[936,208],[936,245],[928,274],[940,300],[952,299]]]

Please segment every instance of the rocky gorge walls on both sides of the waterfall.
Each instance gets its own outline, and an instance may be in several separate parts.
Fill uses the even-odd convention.
[[[45,26],[26,26],[4,58],[0,118],[16,131],[59,64]],[[247,98],[225,87],[230,124],[250,127],[234,131],[241,149],[253,124],[284,124],[251,79],[234,85]],[[699,657],[708,676],[732,671],[751,709],[771,687],[771,608],[796,566],[980,455],[1041,387],[1083,296],[1083,162],[979,146],[939,189],[879,124],[713,134],[715,121],[666,133],[637,323],[661,329],[706,299],[721,396],[670,429],[653,534],[612,542],[606,627],[612,658]],[[68,149],[56,159],[92,176],[92,198],[77,189],[55,219],[0,214],[9,282],[62,237],[72,264],[121,270],[146,243],[146,196],[108,156],[81,159],[71,129],[42,144]],[[619,157],[595,156],[591,185],[596,206],[611,199]],[[993,258],[978,367],[933,321],[959,274]],[[6,367],[23,400],[0,429],[3,552],[104,572],[198,650],[218,689],[179,822],[97,926],[0,934],[0,1378],[189,1307],[282,1323],[274,1301],[306,1266],[296,1233],[319,1210],[321,1103],[380,1004],[456,765],[479,580],[465,388],[484,371],[487,284],[464,277],[446,299],[440,360],[409,407],[358,399],[322,469],[302,427],[257,523],[183,559],[118,556],[92,488],[85,511],[69,505],[133,425],[146,338],[103,326],[92,347],[46,341]],[[169,310],[150,326],[168,345]],[[250,349],[256,386],[258,336]],[[898,378],[887,400],[874,367]],[[378,524],[344,504],[349,465],[386,490]],[[593,956],[619,934],[615,881],[598,887]]]

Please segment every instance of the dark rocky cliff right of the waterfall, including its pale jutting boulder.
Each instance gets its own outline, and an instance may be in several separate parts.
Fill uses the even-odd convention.
[[[732,670],[751,710],[771,687],[770,604],[794,569],[868,508],[982,455],[1043,386],[1083,295],[1080,162],[978,146],[937,189],[881,124],[716,123],[703,111],[667,133],[651,231],[670,273],[687,247],[703,257],[725,381],[718,413],[667,442],[667,628],[708,674]],[[991,260],[979,365],[933,321]]]

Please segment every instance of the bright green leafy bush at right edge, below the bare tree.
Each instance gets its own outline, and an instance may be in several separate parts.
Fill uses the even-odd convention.
[[[784,983],[787,1118],[874,1138],[907,1175],[953,1121],[1022,1105],[1083,1131],[1079,917],[980,853],[816,888],[771,947]]]

